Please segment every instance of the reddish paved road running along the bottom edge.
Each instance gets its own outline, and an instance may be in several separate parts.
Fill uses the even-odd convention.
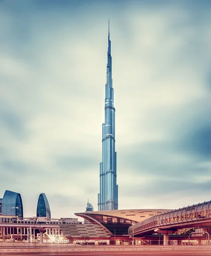
[[[0,248],[0,256],[211,256],[211,247]]]

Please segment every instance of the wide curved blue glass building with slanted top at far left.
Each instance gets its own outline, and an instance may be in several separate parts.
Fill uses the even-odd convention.
[[[23,204],[19,193],[6,190],[1,206],[2,215],[12,215],[23,218]]]

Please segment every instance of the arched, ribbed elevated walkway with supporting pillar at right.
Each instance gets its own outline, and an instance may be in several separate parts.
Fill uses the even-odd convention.
[[[161,233],[166,244],[168,234],[175,233],[178,229],[205,226],[211,226],[211,201],[154,215],[130,226],[128,234],[133,237],[143,237]]]

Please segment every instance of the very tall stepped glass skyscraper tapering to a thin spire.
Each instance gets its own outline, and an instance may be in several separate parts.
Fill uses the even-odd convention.
[[[118,209],[117,152],[115,151],[115,108],[112,88],[112,59],[110,27],[108,20],[108,61],[105,99],[105,122],[103,123],[103,161],[100,163],[100,193],[98,210]]]

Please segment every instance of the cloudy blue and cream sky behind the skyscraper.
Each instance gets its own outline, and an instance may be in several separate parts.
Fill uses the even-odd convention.
[[[211,200],[211,3],[0,0],[0,197],[97,210],[108,18],[119,209]]]

